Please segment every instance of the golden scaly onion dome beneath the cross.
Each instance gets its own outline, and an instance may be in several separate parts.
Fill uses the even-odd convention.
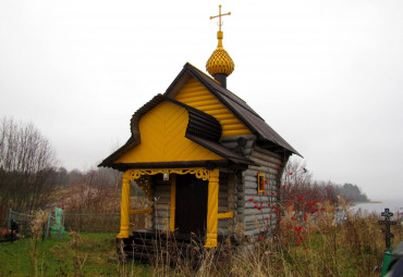
[[[225,74],[229,76],[234,71],[235,64],[229,53],[222,47],[223,34],[221,30],[217,32],[217,49],[208,59],[206,63],[206,70],[211,76],[215,76],[216,74]]]

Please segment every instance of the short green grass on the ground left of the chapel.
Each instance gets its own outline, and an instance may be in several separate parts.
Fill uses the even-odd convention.
[[[121,276],[122,265],[115,255],[115,234],[81,234],[76,251],[74,238],[65,235],[39,240],[37,244],[38,276]],[[33,247],[30,239],[0,243],[0,276],[30,276]],[[83,262],[75,275],[74,261]],[[147,265],[129,261],[133,276],[150,276]],[[133,270],[132,270],[133,269]]]

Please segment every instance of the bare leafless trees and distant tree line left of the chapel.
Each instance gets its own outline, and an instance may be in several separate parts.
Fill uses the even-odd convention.
[[[9,209],[29,213],[62,202],[60,191],[75,186],[94,191],[118,189],[121,175],[110,168],[68,172],[33,124],[0,119],[0,219]],[[65,196],[66,197],[66,196]]]

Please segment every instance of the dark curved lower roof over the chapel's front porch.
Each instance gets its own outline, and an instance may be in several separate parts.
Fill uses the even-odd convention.
[[[138,109],[132,116],[131,121],[131,130],[132,136],[126,141],[126,143],[118,149],[114,153],[109,155],[107,159],[99,164],[99,166],[111,166],[111,167],[121,167],[120,164],[113,164],[119,158],[127,153],[131,149],[135,148],[141,143],[141,134],[138,124],[141,118],[152,110],[155,106],[160,104],[162,101],[170,101],[175,103],[184,109],[188,113],[188,124],[186,127],[185,137],[192,141],[205,147],[206,149],[215,152],[216,154],[233,162],[236,164],[253,164],[254,162],[247,158],[244,158],[236,152],[222,147],[218,140],[221,137],[221,124],[211,115],[204,113],[197,109],[194,109],[190,105],[186,105],[182,102],[179,102],[174,99],[168,98],[162,95],[157,95],[149,102]],[[205,161],[200,161],[205,163]],[[139,164],[136,164],[137,166]]]

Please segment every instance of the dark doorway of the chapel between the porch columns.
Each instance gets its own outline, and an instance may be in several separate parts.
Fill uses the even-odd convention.
[[[206,235],[208,181],[194,175],[176,176],[175,229],[181,234]]]

